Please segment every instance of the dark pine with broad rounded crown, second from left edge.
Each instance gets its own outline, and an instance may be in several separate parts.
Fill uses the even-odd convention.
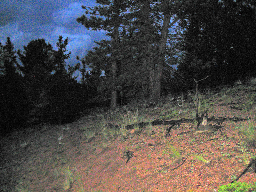
[[[24,89],[27,93],[27,103],[29,105],[28,123],[41,124],[47,114],[49,98],[49,80],[54,70],[54,55],[51,44],[46,44],[44,39],[30,41],[24,46],[24,52],[18,50],[22,65],[20,71],[24,75]]]

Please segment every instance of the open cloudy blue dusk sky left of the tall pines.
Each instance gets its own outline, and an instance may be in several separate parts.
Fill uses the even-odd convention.
[[[66,63],[74,66],[78,61],[76,56],[84,57],[88,50],[104,36],[104,31],[87,30],[76,18],[85,14],[81,8],[95,6],[95,0],[4,0],[0,1],[0,42],[5,44],[7,37],[11,38],[14,49],[24,51],[32,40],[44,38],[53,49],[59,35],[63,40],[68,37],[67,50],[71,56]],[[68,52],[67,52],[68,53]]]

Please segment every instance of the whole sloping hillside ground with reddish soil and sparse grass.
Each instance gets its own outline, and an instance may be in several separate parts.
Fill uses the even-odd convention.
[[[191,121],[165,137],[170,125],[150,122],[195,118],[191,94],[116,111],[95,109],[72,124],[1,138],[0,191],[218,191],[255,158],[256,88],[238,85],[200,93],[199,114],[208,109],[208,117],[230,118],[222,123],[222,134],[178,135],[196,127]],[[141,122],[148,124],[140,127]],[[256,182],[254,166],[238,181]]]

